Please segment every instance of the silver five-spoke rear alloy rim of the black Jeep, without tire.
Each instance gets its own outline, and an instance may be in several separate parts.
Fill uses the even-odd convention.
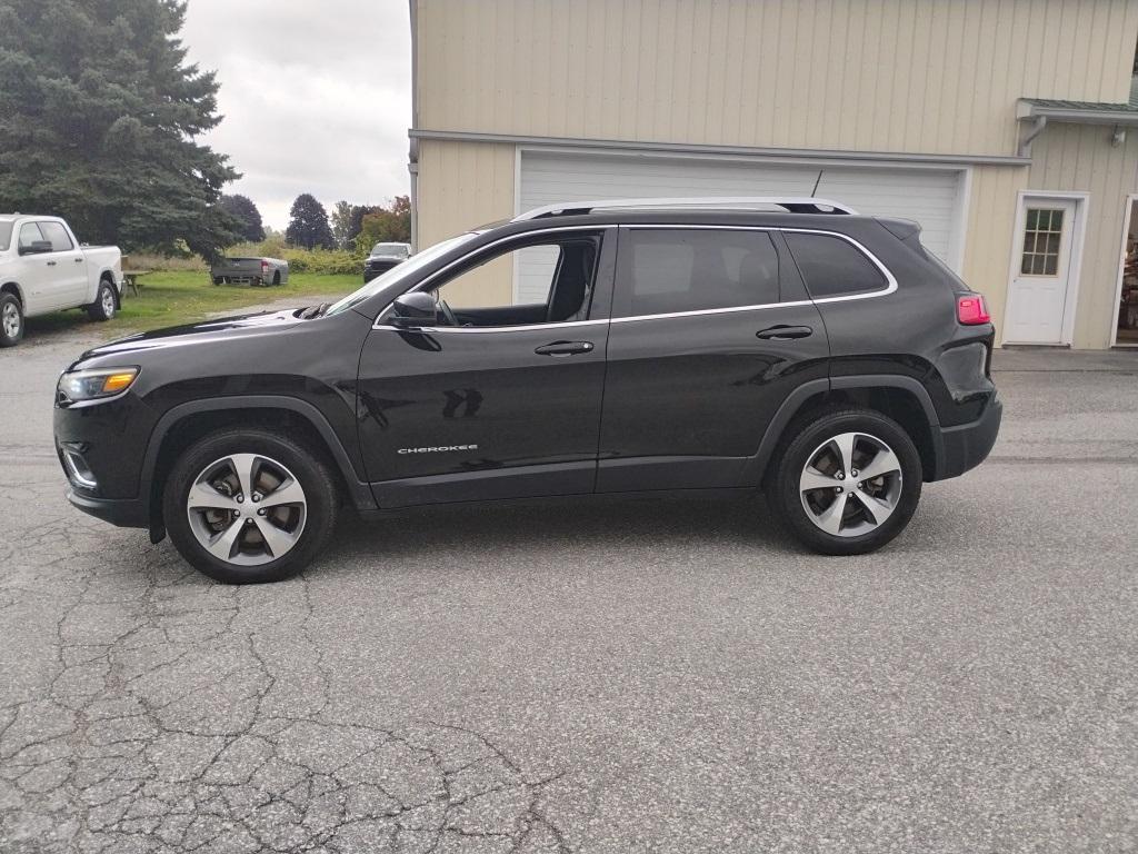
[[[842,433],[807,458],[799,477],[806,515],[833,536],[861,536],[881,527],[901,498],[901,462],[867,433]]]

